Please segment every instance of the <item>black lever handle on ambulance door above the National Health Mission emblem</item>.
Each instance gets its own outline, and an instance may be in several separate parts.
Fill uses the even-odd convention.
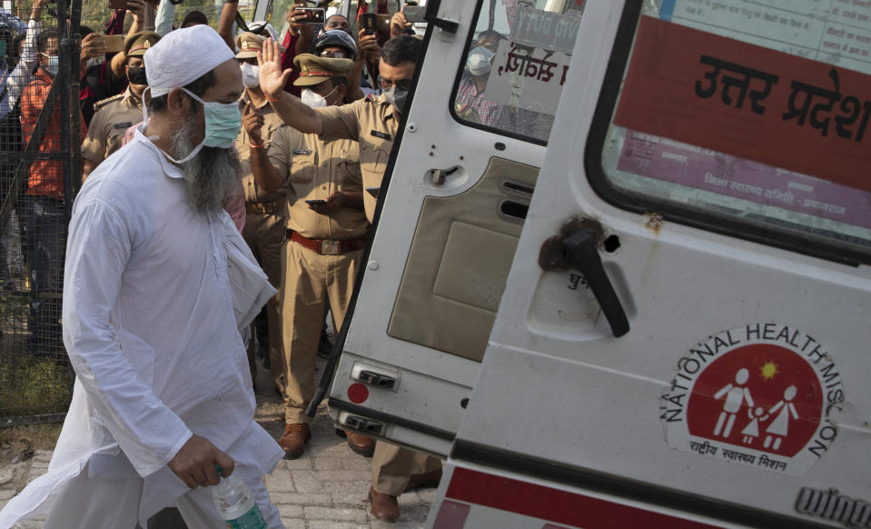
[[[572,231],[562,239],[566,261],[587,278],[589,289],[596,296],[615,338],[629,333],[629,318],[611,284],[602,258],[596,249],[596,234],[589,230]]]

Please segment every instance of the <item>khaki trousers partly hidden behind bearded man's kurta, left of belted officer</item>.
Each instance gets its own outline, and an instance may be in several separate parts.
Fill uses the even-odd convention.
[[[275,288],[281,288],[282,284],[282,250],[285,234],[283,213],[272,215],[249,213],[245,217],[242,237],[248,243],[248,247],[251,248],[254,258],[261,265],[266,277],[269,278],[269,283]],[[278,295],[273,295],[266,302],[266,318],[269,324],[270,378],[272,378],[279,393],[284,393],[282,314]],[[248,362],[252,364],[252,378],[256,373],[256,365],[253,364],[254,336],[256,334],[253,326],[254,324],[252,324],[251,329],[251,340],[248,343]]]

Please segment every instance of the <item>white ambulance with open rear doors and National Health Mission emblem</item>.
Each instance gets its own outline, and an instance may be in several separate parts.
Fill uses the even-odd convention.
[[[871,3],[423,16],[321,389],[427,527],[871,527]]]

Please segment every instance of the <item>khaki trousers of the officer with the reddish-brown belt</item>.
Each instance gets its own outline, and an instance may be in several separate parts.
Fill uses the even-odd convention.
[[[351,301],[362,250],[343,255],[318,255],[287,241],[279,293],[284,319],[284,418],[288,424],[308,423],[305,407],[314,396],[314,362],[318,354],[326,301],[338,332]]]

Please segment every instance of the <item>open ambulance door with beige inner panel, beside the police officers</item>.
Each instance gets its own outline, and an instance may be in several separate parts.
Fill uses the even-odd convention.
[[[579,26],[574,0],[531,4],[427,2],[425,58],[386,165],[373,240],[339,338],[329,404],[344,428],[448,454],[505,288]],[[545,59],[542,50],[507,38],[519,16],[528,25],[536,16],[559,24],[563,37],[547,59],[549,82],[512,95],[524,78],[506,63],[517,71],[514,63],[526,55]],[[490,37],[480,40],[488,30]],[[527,33],[528,40],[535,37],[531,27]],[[467,68],[472,63],[480,85]],[[488,68],[489,77],[482,74]],[[498,102],[469,104],[485,91],[482,85]]]

